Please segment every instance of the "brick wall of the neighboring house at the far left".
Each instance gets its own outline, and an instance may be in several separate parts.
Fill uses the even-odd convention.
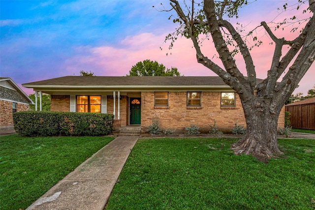
[[[12,126],[13,125],[13,102],[4,101],[0,99],[0,126]],[[17,103],[17,112],[28,111],[28,104]]]

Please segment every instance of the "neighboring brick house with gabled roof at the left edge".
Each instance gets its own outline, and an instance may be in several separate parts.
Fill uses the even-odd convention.
[[[31,98],[8,77],[0,77],[0,128],[6,129],[13,126],[13,113],[28,111]]]

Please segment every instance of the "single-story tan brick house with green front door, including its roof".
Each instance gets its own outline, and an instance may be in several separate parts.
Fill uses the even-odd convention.
[[[51,111],[114,114],[114,126],[147,131],[153,119],[177,131],[198,124],[207,132],[214,120],[225,132],[236,122],[246,126],[238,94],[220,77],[65,76],[23,86],[50,94]],[[284,127],[284,109],[278,125]]]

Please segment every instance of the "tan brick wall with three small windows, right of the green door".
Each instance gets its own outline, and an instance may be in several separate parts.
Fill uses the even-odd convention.
[[[155,107],[154,92],[142,92],[141,126],[146,131],[152,119],[159,120],[161,128],[184,131],[191,124],[198,124],[200,131],[208,132],[209,124],[216,120],[223,132],[233,129],[235,122],[246,127],[242,104],[236,95],[236,107],[221,107],[221,92],[202,92],[201,107],[187,107],[185,92],[169,92],[169,106]],[[279,117],[279,127],[284,127],[284,109]]]

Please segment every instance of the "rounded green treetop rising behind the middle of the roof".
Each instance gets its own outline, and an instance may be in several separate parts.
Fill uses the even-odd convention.
[[[152,76],[154,71],[155,76],[181,76],[177,68],[167,68],[163,64],[158,64],[157,61],[143,60],[143,62],[137,62],[131,67],[129,75],[126,76]]]

